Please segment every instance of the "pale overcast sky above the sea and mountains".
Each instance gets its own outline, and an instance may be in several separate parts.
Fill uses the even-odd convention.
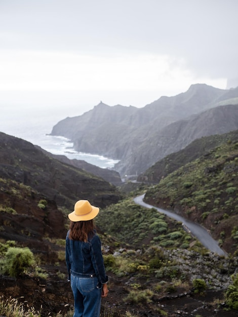
[[[237,0],[0,0],[0,105],[142,107],[238,77]]]

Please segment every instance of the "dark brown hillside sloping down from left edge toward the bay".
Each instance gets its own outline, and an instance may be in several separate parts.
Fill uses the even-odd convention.
[[[103,208],[122,197],[104,179],[59,162],[33,144],[4,133],[0,133],[0,177],[30,186],[59,207],[73,208],[77,200],[87,199]]]

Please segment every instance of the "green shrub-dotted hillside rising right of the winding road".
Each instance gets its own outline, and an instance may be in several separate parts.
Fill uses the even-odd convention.
[[[145,201],[202,223],[227,252],[238,242],[238,142],[228,140],[149,188]]]

